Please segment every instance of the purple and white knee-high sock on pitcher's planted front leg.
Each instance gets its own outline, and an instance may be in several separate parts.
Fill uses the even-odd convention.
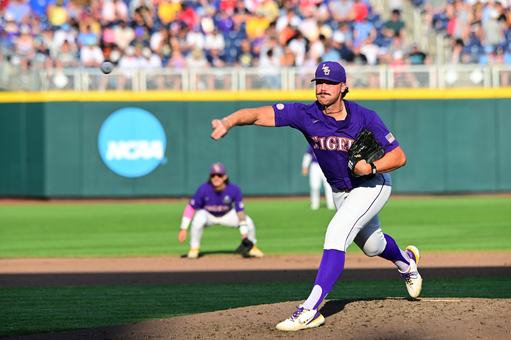
[[[309,295],[307,301],[304,302],[306,308],[317,309],[324,297],[330,293],[344,269],[344,255],[345,253],[343,251],[337,249],[323,250],[323,257],[319,265],[316,282],[314,282],[311,295]]]

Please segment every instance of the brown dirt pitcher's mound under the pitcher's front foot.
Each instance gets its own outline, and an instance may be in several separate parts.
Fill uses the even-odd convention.
[[[377,298],[330,300],[319,328],[283,332],[275,325],[298,302],[250,306],[178,318],[16,339],[504,339],[511,338],[511,299]]]

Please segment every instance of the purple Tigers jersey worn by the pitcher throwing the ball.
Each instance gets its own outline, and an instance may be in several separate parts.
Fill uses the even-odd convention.
[[[352,189],[365,179],[353,177],[348,169],[348,149],[366,128],[373,132],[385,152],[392,151],[399,143],[387,129],[376,112],[359,104],[344,100],[346,118],[335,118],[323,114],[321,104],[286,103],[274,104],[275,126],[291,126],[301,131],[314,148],[319,166],[328,182],[338,189]]]

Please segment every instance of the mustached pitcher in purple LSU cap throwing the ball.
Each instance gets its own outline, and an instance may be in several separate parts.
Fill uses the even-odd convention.
[[[316,281],[307,300],[276,326],[280,330],[317,327],[324,323],[318,306],[332,290],[344,268],[345,251],[352,242],[367,256],[392,261],[405,279],[411,297],[419,296],[419,250],[401,250],[382,232],[378,213],[390,196],[389,172],[406,164],[398,141],[376,112],[344,100],[346,72],[336,62],[316,69],[316,98],[312,104],[278,103],[242,109],[212,121],[213,139],[236,125],[291,126],[300,130],[314,149],[319,166],[332,186],[337,212],[330,222]]]

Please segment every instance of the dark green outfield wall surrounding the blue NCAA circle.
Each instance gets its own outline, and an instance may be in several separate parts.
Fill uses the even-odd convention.
[[[307,143],[297,130],[246,126],[231,130],[220,141],[210,138],[213,118],[240,108],[300,101],[295,98],[36,97],[20,102],[5,96],[0,98],[0,196],[189,196],[206,180],[214,162],[226,165],[231,180],[245,195],[294,195],[309,190],[307,178],[300,174]],[[380,115],[407,154],[407,165],[392,172],[394,193],[511,190],[506,171],[511,169],[511,99],[501,95],[356,101]],[[98,149],[102,124],[127,107],[154,115],[167,138],[160,164],[135,178],[110,170]]]

